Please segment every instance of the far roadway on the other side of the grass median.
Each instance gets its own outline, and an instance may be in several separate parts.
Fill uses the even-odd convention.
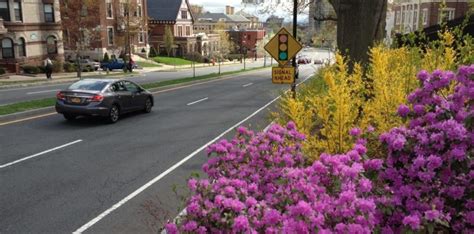
[[[267,61],[266,65],[267,66],[270,65],[269,63],[270,61]],[[248,60],[246,63],[246,68],[263,67],[263,65],[264,65],[264,62],[260,60],[257,60],[257,61]],[[238,71],[243,68],[244,68],[243,64],[236,63],[232,65],[221,66],[221,72]],[[217,65],[212,66],[212,67],[202,67],[202,68],[199,67],[199,68],[196,68],[195,74],[196,76],[202,76],[202,75],[207,75],[207,74],[212,74],[212,73],[218,73],[218,71],[219,71],[219,67]],[[192,77],[192,76],[193,76],[193,69],[182,69],[179,71],[157,71],[157,72],[142,73],[138,76],[131,78],[131,80],[139,84],[146,84],[146,83],[152,83],[152,82],[157,82],[157,81],[174,80],[174,79],[180,79],[180,78]],[[88,77],[88,78],[93,78],[93,77]],[[31,87],[25,87],[25,88],[0,89],[0,105],[7,105],[7,104],[15,103],[15,102],[28,101],[28,100],[33,100],[33,99],[54,97],[54,95],[56,95],[56,93],[59,90],[67,88],[71,83],[31,86]]]

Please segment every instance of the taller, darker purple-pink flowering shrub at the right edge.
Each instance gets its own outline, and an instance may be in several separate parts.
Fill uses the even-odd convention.
[[[406,229],[474,232],[474,65],[458,74],[420,72],[422,88],[402,105],[408,127],[382,134],[393,191],[386,225]],[[454,92],[446,96],[446,90]],[[393,212],[393,213],[392,213]],[[396,227],[402,227],[401,230]]]

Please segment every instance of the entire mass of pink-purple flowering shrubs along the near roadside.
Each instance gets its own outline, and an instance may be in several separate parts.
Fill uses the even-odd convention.
[[[474,232],[474,66],[421,72],[422,87],[399,114],[408,127],[380,136],[386,160],[367,159],[365,135],[346,154],[311,165],[290,122],[208,149],[208,179],[169,233]],[[454,90],[446,95],[447,90]],[[373,132],[373,129],[367,129]]]

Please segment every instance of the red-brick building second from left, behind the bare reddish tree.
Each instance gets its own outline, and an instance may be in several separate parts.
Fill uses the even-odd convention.
[[[105,52],[119,56],[129,49],[148,54],[147,0],[101,0],[91,6],[77,0],[60,3],[67,59],[75,58],[77,51],[95,60]]]

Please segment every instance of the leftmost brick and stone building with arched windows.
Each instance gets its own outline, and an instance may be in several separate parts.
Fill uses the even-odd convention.
[[[60,20],[58,0],[0,0],[0,67],[64,60]]]

